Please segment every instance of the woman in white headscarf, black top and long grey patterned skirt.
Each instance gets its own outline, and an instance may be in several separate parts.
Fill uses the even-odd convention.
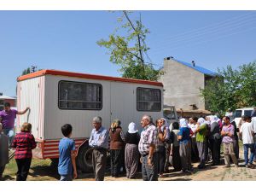
[[[135,178],[139,162],[138,143],[140,135],[135,123],[131,122],[125,135],[125,169],[127,178]]]

